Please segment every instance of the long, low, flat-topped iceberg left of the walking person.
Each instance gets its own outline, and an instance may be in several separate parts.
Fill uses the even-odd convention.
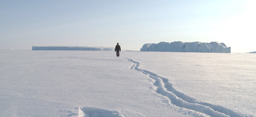
[[[111,48],[111,47],[86,47],[86,46],[32,46],[32,50],[114,51],[114,48]]]

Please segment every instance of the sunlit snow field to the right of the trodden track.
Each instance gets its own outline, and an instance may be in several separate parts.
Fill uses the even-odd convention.
[[[133,56],[140,61],[140,69],[164,76],[176,91],[199,104],[243,117],[256,116],[256,55],[138,52]],[[234,115],[230,116],[238,116]]]

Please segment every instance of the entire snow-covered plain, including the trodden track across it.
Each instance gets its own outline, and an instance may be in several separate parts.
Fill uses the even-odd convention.
[[[0,117],[256,117],[256,54],[0,50]]]

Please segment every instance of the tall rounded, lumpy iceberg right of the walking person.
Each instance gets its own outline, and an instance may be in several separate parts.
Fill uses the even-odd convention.
[[[220,52],[230,53],[231,48],[224,43],[211,42],[160,42],[158,44],[144,44],[141,51],[150,52]]]

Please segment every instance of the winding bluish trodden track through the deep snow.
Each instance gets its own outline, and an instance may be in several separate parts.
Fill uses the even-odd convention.
[[[149,72],[147,70],[139,69],[139,62],[133,61],[132,59],[125,58],[128,61],[132,62],[131,69],[134,69],[138,72],[141,72],[154,81],[154,86],[156,87],[155,92],[167,97],[170,104],[176,105],[180,108],[190,109],[199,113],[207,114],[210,117],[243,117],[230,109],[226,109],[219,105],[213,105],[206,102],[196,101],[192,97],[185,95],[176,91],[172,84],[169,82],[169,79],[165,77],[160,77],[155,73]]]

